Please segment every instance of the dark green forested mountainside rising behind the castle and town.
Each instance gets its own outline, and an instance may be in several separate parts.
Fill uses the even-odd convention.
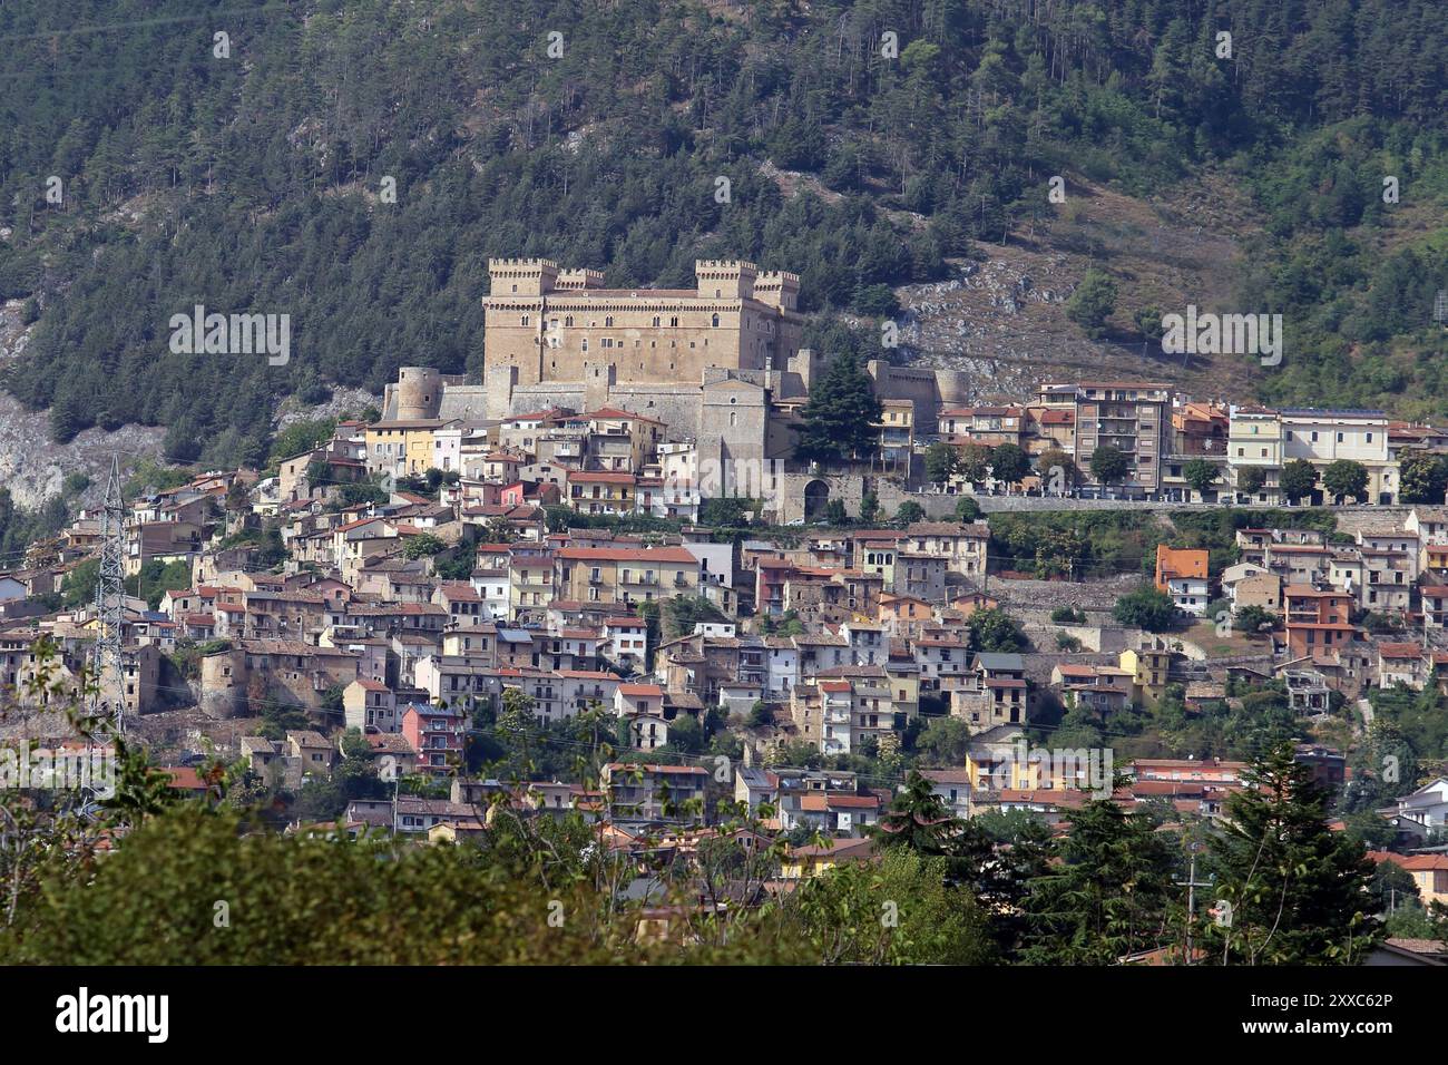
[[[828,327],[1050,229],[1053,174],[1205,171],[1264,219],[1231,307],[1284,314],[1261,397],[1448,414],[1429,0],[6,0],[0,57],[0,300],[36,319],[4,385],[59,440],[255,464],[278,396],[476,372],[488,256],[626,287],[752,258]],[[197,303],[288,313],[291,362],[171,354]]]

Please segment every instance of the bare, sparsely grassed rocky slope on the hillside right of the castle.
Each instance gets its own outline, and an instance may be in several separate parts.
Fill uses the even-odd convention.
[[[1203,217],[1205,203],[1222,204],[1222,217]],[[1041,383],[1092,378],[1167,381],[1199,397],[1251,396],[1258,374],[1251,359],[1164,355],[1135,314],[1234,306],[1239,242],[1255,227],[1250,204],[1218,175],[1161,201],[1073,181],[1069,206],[1051,217],[1015,226],[1005,243],[979,242],[979,258],[948,259],[946,281],[895,290],[896,361],[957,371],[964,403],[1019,403]],[[1118,288],[1098,341],[1066,313],[1093,268]]]

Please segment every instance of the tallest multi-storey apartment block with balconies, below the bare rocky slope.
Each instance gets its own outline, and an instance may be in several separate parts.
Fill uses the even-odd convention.
[[[1076,385],[1076,467],[1090,478],[1090,458],[1112,446],[1127,455],[1121,487],[1131,494],[1161,488],[1161,459],[1171,425],[1166,384],[1083,381]]]

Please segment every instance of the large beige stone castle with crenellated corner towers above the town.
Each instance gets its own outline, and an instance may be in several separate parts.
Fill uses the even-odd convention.
[[[489,259],[481,385],[405,367],[384,419],[500,422],[565,407],[653,417],[692,442],[725,491],[750,494],[792,456],[792,412],[824,354],[802,348],[799,277],[701,259],[694,288],[604,288],[594,270]],[[956,375],[872,362],[880,398],[909,398],[933,425],[963,394]]]

